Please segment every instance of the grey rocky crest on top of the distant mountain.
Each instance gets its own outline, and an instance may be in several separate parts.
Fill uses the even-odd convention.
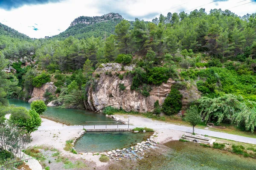
[[[109,13],[102,16],[97,17],[78,17],[76,18],[70,26],[75,26],[76,24],[83,23],[86,25],[94,24],[94,23],[101,23],[101,22],[107,22],[109,20],[123,20],[123,17],[120,14],[117,13]]]

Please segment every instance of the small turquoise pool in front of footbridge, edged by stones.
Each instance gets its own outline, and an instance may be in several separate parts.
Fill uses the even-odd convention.
[[[77,152],[106,152],[135,146],[145,141],[152,133],[132,132],[87,132],[76,141]]]

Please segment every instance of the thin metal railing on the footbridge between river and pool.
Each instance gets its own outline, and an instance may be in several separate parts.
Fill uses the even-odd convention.
[[[95,126],[104,126],[105,129],[107,129],[108,126],[116,126],[117,129],[119,129],[119,127],[123,126],[123,125],[128,125],[128,129],[129,129],[129,121],[96,121],[96,122],[85,122],[85,125],[82,125],[83,128],[84,126],[93,126],[93,129],[95,129]]]

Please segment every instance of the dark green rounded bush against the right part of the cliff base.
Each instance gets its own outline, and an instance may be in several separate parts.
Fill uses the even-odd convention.
[[[182,94],[180,94],[180,91],[176,88],[172,88],[163,102],[162,112],[169,116],[178,113],[182,107],[181,99]]]

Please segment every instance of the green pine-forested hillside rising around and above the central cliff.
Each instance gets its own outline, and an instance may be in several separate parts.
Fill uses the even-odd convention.
[[[56,93],[63,105],[83,108],[88,89],[95,88],[100,74],[120,79],[129,75],[131,90],[146,97],[153,86],[171,78],[176,84],[162,106],[156,102],[155,114],[176,114],[181,110],[177,91],[195,84],[202,98],[189,105],[196,105],[206,122],[255,129],[256,14],[239,17],[229,10],[213,9],[207,14],[200,9],[190,14],[161,14],[152,22],[136,19],[132,26],[127,20],[84,24],[73,24],[60,35],[44,40],[24,41],[2,35],[1,56],[17,61],[12,64],[17,70],[14,75],[25,89],[6,95],[29,99],[31,89],[47,79],[58,87]],[[25,63],[19,59],[27,55],[35,63],[23,67]],[[93,74],[107,62],[135,68],[125,74]],[[122,84],[119,88],[126,87]],[[57,99],[54,94],[45,95],[48,101]]]

